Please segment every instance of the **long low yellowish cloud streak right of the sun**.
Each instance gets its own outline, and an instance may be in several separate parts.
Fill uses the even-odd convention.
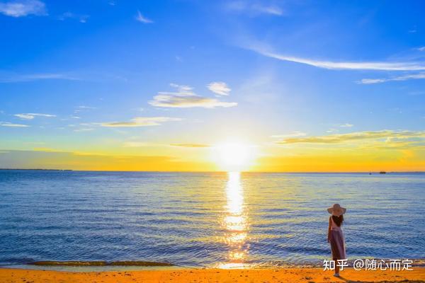
[[[365,131],[348,134],[329,134],[316,137],[292,137],[281,139],[278,144],[337,144],[347,141],[361,141],[365,139],[408,139],[424,138],[425,131]]]

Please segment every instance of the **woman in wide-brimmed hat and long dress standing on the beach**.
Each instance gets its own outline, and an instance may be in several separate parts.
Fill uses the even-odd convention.
[[[329,216],[328,243],[331,243],[332,260],[335,260],[335,277],[339,277],[339,266],[337,260],[345,260],[345,241],[341,225],[344,222],[343,214],[347,209],[339,204],[329,207],[327,211],[332,214]]]

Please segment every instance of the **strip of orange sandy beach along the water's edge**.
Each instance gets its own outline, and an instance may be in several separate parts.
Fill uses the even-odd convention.
[[[259,270],[143,270],[111,272],[59,272],[49,270],[0,269],[1,283],[110,283],[110,282],[425,282],[425,268],[412,271],[356,271],[351,268],[332,276],[322,268]]]

